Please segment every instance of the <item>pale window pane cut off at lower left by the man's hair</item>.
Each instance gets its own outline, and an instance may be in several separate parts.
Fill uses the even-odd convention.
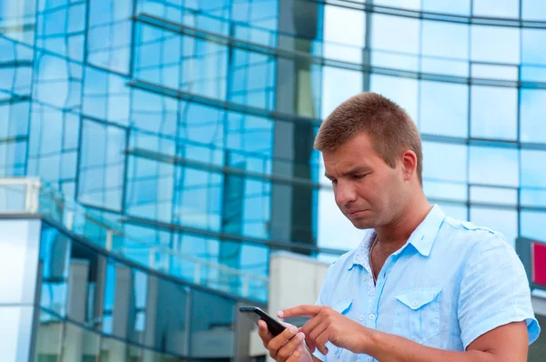
[[[417,79],[402,76],[371,75],[370,90],[388,97],[404,108],[414,122],[417,122]]]

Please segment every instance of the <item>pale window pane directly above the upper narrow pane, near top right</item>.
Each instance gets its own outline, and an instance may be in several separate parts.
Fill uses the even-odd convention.
[[[491,63],[520,63],[520,29],[472,25],[472,60]]]

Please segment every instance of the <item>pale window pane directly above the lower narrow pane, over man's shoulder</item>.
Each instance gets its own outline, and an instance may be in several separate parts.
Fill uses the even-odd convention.
[[[470,183],[519,186],[518,150],[470,146]]]

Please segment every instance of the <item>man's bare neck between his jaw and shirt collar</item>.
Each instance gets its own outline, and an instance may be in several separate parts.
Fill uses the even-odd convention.
[[[391,224],[376,227],[375,231],[378,235],[379,244],[389,246],[389,249],[392,249],[393,246],[396,246],[396,249],[398,249],[406,244],[411,233],[429,215],[431,208],[432,206],[430,206],[429,201],[424,195],[418,197],[417,200],[412,200],[408,203],[406,210]]]

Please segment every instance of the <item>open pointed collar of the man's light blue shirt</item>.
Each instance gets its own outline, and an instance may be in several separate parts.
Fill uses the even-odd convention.
[[[408,245],[412,245],[420,253],[421,256],[430,256],[430,249],[434,243],[434,239],[438,235],[440,226],[443,223],[445,214],[441,211],[440,206],[434,205],[430,209],[429,214],[425,219],[420,223],[420,226],[413,231],[408,239],[406,245],[402,246],[394,254],[398,255],[402,252]],[[371,230],[362,240],[359,247],[355,252],[353,258],[353,263],[349,266],[349,269],[355,264],[364,266],[368,269],[369,267],[369,247],[376,237],[375,230]]]

